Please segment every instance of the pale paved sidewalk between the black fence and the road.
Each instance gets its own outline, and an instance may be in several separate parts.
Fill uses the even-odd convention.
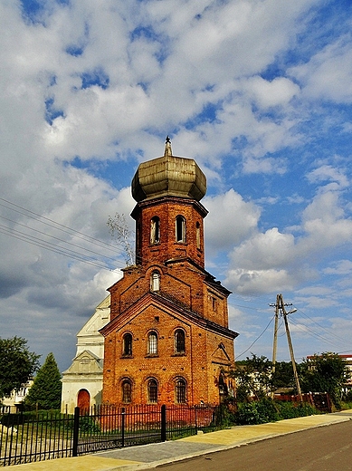
[[[11,469],[14,471],[24,467],[26,471],[135,471],[152,469],[161,464],[347,420],[352,420],[352,410],[321,416],[290,418],[269,424],[233,427],[175,441],[119,448],[83,457],[51,459],[11,466]]]

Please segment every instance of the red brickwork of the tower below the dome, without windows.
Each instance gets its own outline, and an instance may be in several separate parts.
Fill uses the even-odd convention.
[[[176,216],[186,219],[186,242],[176,243]],[[122,405],[122,381],[132,384],[132,403],[147,403],[147,381],[157,380],[158,403],[173,404],[175,381],[186,380],[186,401],[217,404],[221,370],[233,366],[233,333],[227,332],[228,293],[208,284],[204,270],[205,208],[193,199],[161,197],[135,207],[138,264],[109,289],[111,321],[105,336],[103,401]],[[160,242],[150,243],[150,221],[160,220]],[[196,224],[200,234],[197,240]],[[200,244],[199,244],[200,242]],[[200,248],[197,248],[200,246]],[[160,290],[151,290],[153,271]],[[210,322],[206,322],[209,320]],[[223,328],[223,330],[222,330]],[[175,331],[186,333],[186,353],[175,352]],[[147,354],[147,336],[157,332],[157,355]],[[123,336],[132,335],[132,355],[123,356]],[[222,347],[220,348],[220,345]]]

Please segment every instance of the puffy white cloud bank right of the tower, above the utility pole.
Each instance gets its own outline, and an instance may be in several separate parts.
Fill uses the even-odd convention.
[[[338,193],[319,193],[304,209],[300,231],[296,238],[276,227],[252,231],[229,255],[226,284],[237,293],[265,293],[292,290],[319,278],[317,259],[352,240],[352,221],[344,218]]]

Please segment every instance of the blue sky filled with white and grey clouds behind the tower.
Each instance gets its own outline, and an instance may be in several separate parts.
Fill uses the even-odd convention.
[[[279,293],[296,360],[352,353],[349,0],[0,0],[0,24],[1,338],[71,365],[169,135],[207,178],[238,360],[271,359]]]

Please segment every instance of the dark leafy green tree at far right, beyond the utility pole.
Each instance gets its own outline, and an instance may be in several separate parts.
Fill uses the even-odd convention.
[[[347,383],[350,372],[337,353],[327,351],[306,358],[301,366],[301,377],[303,392],[328,392],[334,405],[340,408],[341,389]]]

